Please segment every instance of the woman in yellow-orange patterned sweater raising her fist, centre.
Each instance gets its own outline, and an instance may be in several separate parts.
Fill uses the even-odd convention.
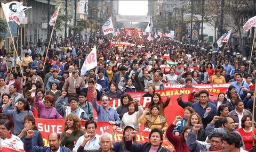
[[[159,115],[159,107],[153,105],[151,111],[146,108],[143,114],[139,117],[138,122],[145,124],[145,130],[152,130],[153,128],[161,129],[163,132],[166,131],[168,124],[164,116]],[[147,115],[150,113],[149,115]]]

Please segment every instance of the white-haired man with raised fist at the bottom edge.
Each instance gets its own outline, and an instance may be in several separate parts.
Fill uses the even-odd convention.
[[[90,134],[85,133],[84,134],[84,143],[90,141],[90,139],[91,139]],[[83,144],[78,148],[77,152],[83,152],[83,151],[85,151],[85,152],[90,152],[90,151],[93,151],[93,152],[102,152],[102,151],[104,151],[104,152],[114,152],[111,149],[112,143],[113,143],[112,135],[108,132],[105,132],[105,133],[101,134],[101,136],[99,138],[99,144],[100,144],[100,149],[99,150],[84,150],[83,146],[85,144]],[[96,149],[96,147],[95,147],[95,149]]]

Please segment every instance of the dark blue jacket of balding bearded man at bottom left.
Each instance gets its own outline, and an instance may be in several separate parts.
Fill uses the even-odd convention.
[[[37,151],[37,152],[51,152],[52,149],[50,147],[46,147],[46,146],[33,146],[32,145],[32,139],[27,139],[25,138],[24,140],[24,150],[26,152],[33,152],[33,151]],[[62,145],[60,145],[60,152],[71,152],[70,149],[63,147]]]

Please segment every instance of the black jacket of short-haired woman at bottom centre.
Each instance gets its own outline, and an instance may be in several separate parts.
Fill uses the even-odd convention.
[[[125,147],[128,151],[148,152],[151,147],[151,143],[146,142],[146,143],[143,143],[143,145],[134,145],[134,144],[132,144],[132,141],[126,141]],[[159,145],[159,147],[157,149],[157,152],[167,152],[167,151],[169,151],[169,150],[162,147],[162,145]]]

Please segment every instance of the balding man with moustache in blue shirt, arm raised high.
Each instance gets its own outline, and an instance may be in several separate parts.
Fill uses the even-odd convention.
[[[105,121],[112,125],[119,125],[121,123],[119,114],[117,113],[116,109],[109,106],[109,97],[102,96],[101,104],[102,105],[99,105],[97,103],[97,91],[94,91],[92,105],[97,112],[98,121]]]

